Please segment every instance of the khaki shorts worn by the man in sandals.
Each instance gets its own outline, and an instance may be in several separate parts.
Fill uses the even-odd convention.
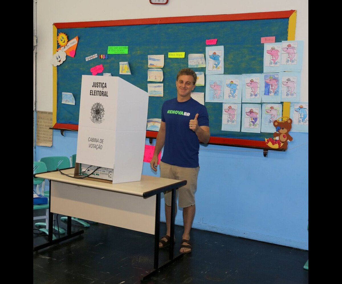
[[[160,161],[160,177],[172,178],[173,180],[184,181],[186,185],[176,190],[175,201],[179,196],[178,206],[181,208],[195,205],[195,192],[197,189],[197,176],[199,166],[197,168],[184,168],[181,166],[173,166]],[[171,206],[172,190],[164,192],[165,204]]]

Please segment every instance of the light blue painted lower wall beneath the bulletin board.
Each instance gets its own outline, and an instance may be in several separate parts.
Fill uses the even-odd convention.
[[[36,160],[75,154],[77,134],[53,130],[52,147],[37,146]],[[308,250],[308,133],[291,136],[288,151],[270,150],[268,157],[258,149],[200,145],[193,227]],[[159,167],[155,173],[144,163],[142,174],[159,176]],[[175,222],[183,224],[181,210]]]

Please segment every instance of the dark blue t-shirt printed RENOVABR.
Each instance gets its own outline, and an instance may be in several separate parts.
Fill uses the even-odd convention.
[[[209,127],[207,108],[190,98],[178,102],[177,98],[167,100],[161,107],[161,121],[165,122],[165,144],[161,161],[185,168],[198,167],[199,140],[189,128],[190,119],[198,113],[198,126]]]

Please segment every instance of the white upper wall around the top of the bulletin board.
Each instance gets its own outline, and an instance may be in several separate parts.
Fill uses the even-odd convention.
[[[149,0],[37,0],[37,110],[52,111],[50,60],[55,53],[53,41],[57,40],[52,38],[53,23],[287,10],[297,10],[295,39],[304,40],[301,101],[308,102],[308,0],[169,0],[166,5],[152,5]]]

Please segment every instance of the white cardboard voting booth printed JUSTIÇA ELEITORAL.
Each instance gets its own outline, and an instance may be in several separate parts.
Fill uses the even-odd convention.
[[[140,181],[147,108],[148,93],[124,79],[82,75],[75,173]]]

